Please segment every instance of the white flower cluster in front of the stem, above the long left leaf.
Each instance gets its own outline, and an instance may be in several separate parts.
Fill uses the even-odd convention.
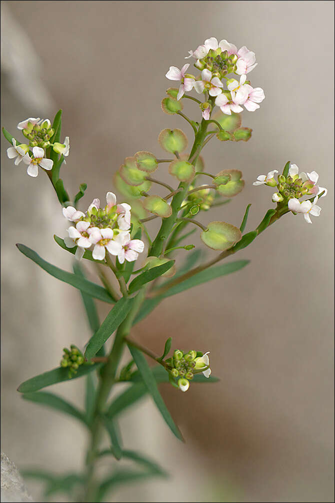
[[[73,206],[63,208],[64,217],[74,225],[67,229],[64,243],[68,248],[77,246],[75,257],[80,260],[85,249],[92,249],[94,260],[104,260],[106,250],[118,257],[120,264],[135,261],[144,250],[144,242],[131,239],[131,206],[117,204],[116,195],[107,192],[106,206],[100,208],[99,199],[93,199],[86,214]]]

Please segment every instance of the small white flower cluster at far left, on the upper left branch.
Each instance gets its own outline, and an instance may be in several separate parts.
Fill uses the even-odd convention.
[[[13,137],[13,146],[7,149],[7,155],[10,159],[15,159],[16,166],[23,160],[28,165],[27,173],[29,176],[37,177],[39,166],[47,171],[52,170],[53,160],[45,158],[46,148],[52,147],[56,153],[65,157],[69,155],[70,139],[68,136],[66,136],[64,143],[50,142],[55,131],[51,127],[49,119],[29,117],[29,119],[19,122],[17,127],[29,140],[29,145],[26,143],[18,145],[17,140]]]

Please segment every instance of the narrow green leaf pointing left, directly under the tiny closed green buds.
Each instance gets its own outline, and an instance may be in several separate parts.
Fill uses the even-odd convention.
[[[32,393],[33,391],[38,391],[58,382],[73,381],[73,379],[78,379],[89,372],[93,372],[93,370],[97,370],[101,365],[101,363],[95,363],[94,365],[85,363],[78,368],[77,373],[72,377],[68,376],[68,369],[57,367],[56,369],[49,370],[48,372],[44,372],[43,374],[39,374],[38,376],[24,381],[18,387],[18,391],[20,391],[20,393]]]

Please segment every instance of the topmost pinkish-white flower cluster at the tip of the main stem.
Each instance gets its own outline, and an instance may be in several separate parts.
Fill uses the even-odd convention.
[[[190,57],[196,59],[194,66],[201,70],[198,77],[186,73],[188,63],[181,70],[170,66],[165,75],[170,80],[180,81],[177,100],[193,88],[198,94],[204,93],[206,100],[200,104],[200,109],[205,120],[209,119],[213,104],[226,115],[242,112],[242,105],[249,112],[260,108],[259,103],[264,100],[265,95],[263,89],[253,88],[247,80],[247,73],[253,70],[257,63],[255,53],[246,46],[238,50],[227,40],[217,42],[216,38],[211,37],[195,51],[189,51],[187,58]],[[240,80],[229,78],[232,73],[240,75]]]

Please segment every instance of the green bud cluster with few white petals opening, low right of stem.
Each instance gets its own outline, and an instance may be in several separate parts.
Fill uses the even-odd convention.
[[[211,370],[209,368],[208,353],[191,350],[184,353],[179,349],[175,350],[173,357],[165,360],[165,366],[174,379],[178,379],[177,385],[181,391],[187,391],[189,381],[193,379],[194,374],[202,372],[205,377],[209,377]]]

